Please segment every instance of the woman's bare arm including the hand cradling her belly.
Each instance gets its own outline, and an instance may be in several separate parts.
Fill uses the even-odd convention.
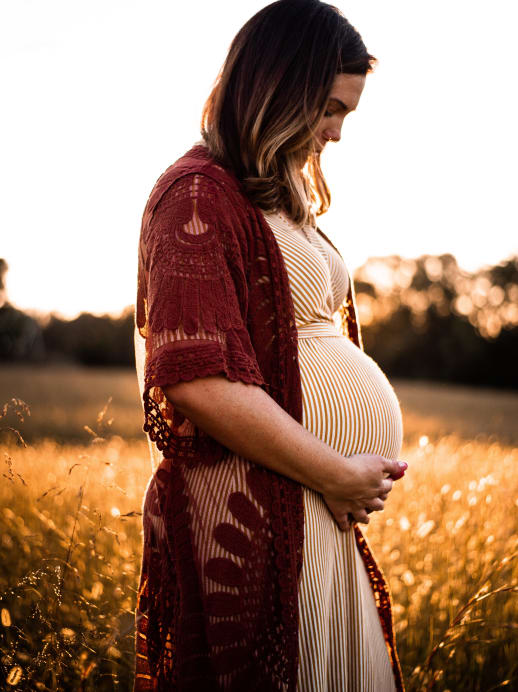
[[[216,375],[164,388],[166,397],[195,425],[236,454],[322,493],[341,528],[347,515],[369,521],[383,509],[399,462],[370,454],[344,457],[306,430],[261,387]]]

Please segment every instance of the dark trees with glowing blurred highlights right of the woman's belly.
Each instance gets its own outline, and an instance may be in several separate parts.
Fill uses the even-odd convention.
[[[518,258],[475,274],[452,255],[373,258],[355,279],[366,351],[388,374],[518,388]]]

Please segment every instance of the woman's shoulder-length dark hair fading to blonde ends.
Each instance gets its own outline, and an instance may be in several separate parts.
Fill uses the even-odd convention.
[[[366,75],[374,62],[336,7],[278,0],[232,41],[203,109],[202,137],[254,204],[311,222],[331,202],[314,133],[333,81]]]

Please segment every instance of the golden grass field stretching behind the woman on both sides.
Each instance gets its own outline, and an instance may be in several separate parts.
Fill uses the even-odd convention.
[[[518,689],[518,394],[395,389],[409,470],[366,534],[406,688]],[[135,376],[4,367],[13,397],[31,415],[0,420],[0,688],[131,690],[150,476]]]

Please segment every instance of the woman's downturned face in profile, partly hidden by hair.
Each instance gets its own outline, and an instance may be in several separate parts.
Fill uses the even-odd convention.
[[[340,141],[344,118],[356,109],[364,86],[365,75],[336,75],[327,101],[326,112],[316,127],[317,152],[320,153],[329,140]]]

